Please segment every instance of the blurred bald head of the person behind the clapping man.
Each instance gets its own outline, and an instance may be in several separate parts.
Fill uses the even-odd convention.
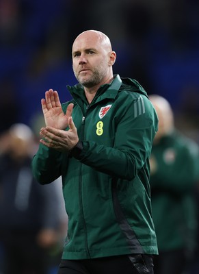
[[[150,95],[149,99],[154,105],[159,118],[159,129],[155,136],[155,140],[166,136],[174,129],[174,115],[170,103],[159,95]]]

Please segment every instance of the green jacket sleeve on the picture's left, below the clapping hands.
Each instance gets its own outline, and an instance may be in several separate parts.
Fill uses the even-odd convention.
[[[49,184],[61,175],[63,155],[40,144],[31,162],[34,178],[40,184]]]

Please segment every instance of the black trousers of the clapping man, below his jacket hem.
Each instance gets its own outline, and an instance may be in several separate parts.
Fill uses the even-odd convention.
[[[152,256],[135,254],[62,260],[58,274],[153,274]]]

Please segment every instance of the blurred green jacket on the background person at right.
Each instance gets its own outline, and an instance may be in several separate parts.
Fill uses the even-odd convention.
[[[157,164],[150,186],[159,252],[191,251],[196,243],[198,146],[174,131],[153,145],[151,157]]]

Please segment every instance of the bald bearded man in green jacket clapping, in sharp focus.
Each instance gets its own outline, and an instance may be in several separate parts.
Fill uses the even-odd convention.
[[[59,274],[153,273],[148,159],[157,114],[137,81],[113,75],[115,61],[105,34],[79,34],[72,101],[61,105],[52,89],[42,99],[32,171],[40,184],[62,175],[68,236]]]

